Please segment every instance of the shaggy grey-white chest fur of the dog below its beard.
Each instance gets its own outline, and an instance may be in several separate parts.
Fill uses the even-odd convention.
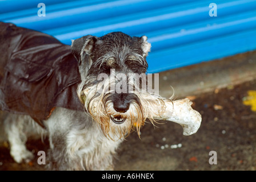
[[[69,119],[66,119],[69,118]],[[58,170],[110,170],[122,140],[105,137],[98,123],[83,112],[57,108],[45,122],[49,131],[49,168]]]

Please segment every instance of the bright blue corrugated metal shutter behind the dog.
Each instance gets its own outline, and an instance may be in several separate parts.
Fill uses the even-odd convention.
[[[38,3],[46,16],[38,16]],[[211,17],[210,3],[217,5]],[[65,44],[122,31],[148,36],[148,73],[256,49],[256,0],[0,1],[0,20],[46,32]]]

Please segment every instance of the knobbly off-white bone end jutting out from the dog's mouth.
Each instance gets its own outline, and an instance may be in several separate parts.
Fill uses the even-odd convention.
[[[178,123],[183,127],[183,135],[192,135],[197,132],[201,125],[202,117],[198,111],[193,110],[191,107],[192,102],[188,99],[182,99],[171,102],[165,101],[165,111],[160,114],[153,114],[153,119],[162,119],[166,121],[172,121]],[[155,106],[154,109],[158,109],[158,113],[161,112],[161,106]],[[157,113],[152,111],[151,113]]]

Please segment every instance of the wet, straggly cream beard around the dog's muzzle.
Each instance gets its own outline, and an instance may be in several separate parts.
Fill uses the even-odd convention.
[[[137,131],[139,135],[140,128],[147,118],[154,125],[156,121],[153,115],[161,115],[165,111],[166,98],[163,99],[158,94],[145,92],[145,90],[140,92],[141,87],[133,84],[129,94],[133,94],[134,99],[130,103],[129,110],[119,113],[115,111],[111,101],[111,94],[114,94],[115,90],[110,85],[111,80],[107,79],[97,85],[83,87],[85,89],[78,90],[78,96],[84,104],[86,113],[99,123],[103,134],[112,140],[126,137],[131,131]]]

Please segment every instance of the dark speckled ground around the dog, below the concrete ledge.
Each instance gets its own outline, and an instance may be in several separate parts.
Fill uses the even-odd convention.
[[[153,127],[146,123],[130,134],[118,149],[115,170],[255,170],[256,112],[244,101],[253,100],[249,90],[256,90],[256,80],[190,97],[193,108],[202,114],[198,132],[182,135],[177,123],[161,121]],[[17,164],[9,154],[9,144],[0,147],[0,170],[44,170],[37,164],[37,152],[47,151],[48,143],[29,140],[35,159]],[[210,151],[217,154],[217,164],[209,164]]]

